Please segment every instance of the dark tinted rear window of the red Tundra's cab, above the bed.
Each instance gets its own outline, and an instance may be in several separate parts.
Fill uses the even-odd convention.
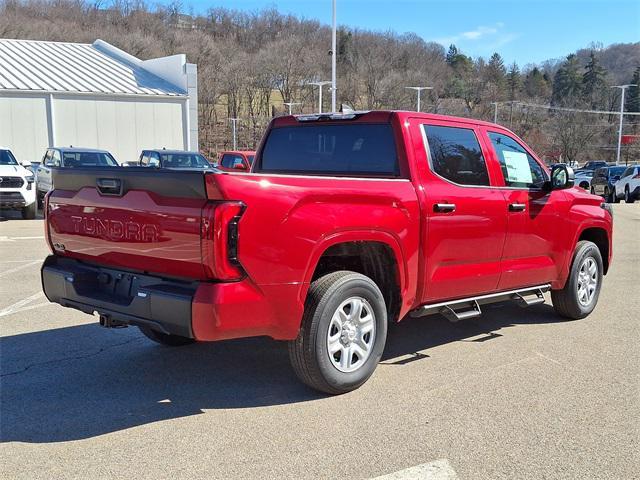
[[[271,130],[256,171],[397,177],[390,124],[340,124]]]

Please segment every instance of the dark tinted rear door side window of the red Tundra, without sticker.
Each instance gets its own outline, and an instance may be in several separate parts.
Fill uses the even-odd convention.
[[[431,169],[458,185],[489,185],[482,149],[472,129],[423,125]]]

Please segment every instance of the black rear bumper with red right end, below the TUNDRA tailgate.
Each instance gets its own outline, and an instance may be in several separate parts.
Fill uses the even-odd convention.
[[[42,265],[49,301],[110,321],[202,341],[266,335],[296,338],[299,285],[181,282],[50,255]]]

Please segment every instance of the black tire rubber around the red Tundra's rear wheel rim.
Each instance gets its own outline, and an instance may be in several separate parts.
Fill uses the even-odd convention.
[[[365,300],[362,304],[364,309],[371,310],[375,330],[368,356],[354,371],[345,372],[334,366],[334,362],[340,360],[336,359],[336,354],[333,358],[330,356],[328,336],[334,328],[334,314],[353,298]],[[359,273],[338,271],[311,284],[298,338],[289,342],[289,358],[296,375],[305,384],[321,392],[339,395],[355,390],[369,379],[382,357],[386,340],[387,308],[378,286]],[[353,339],[345,341],[358,343]],[[353,355],[356,354],[350,354],[351,359]]]

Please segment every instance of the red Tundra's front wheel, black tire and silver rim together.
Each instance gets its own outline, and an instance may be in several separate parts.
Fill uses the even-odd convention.
[[[567,283],[562,290],[551,291],[555,311],[574,320],[589,315],[598,303],[602,275],[602,256],[596,244],[578,242]]]

